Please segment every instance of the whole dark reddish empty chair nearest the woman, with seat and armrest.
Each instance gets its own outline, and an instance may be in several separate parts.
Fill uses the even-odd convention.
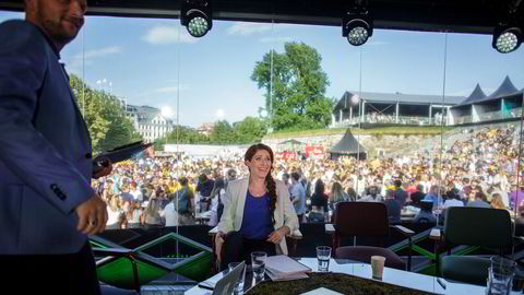
[[[369,246],[341,246],[342,237],[376,237],[384,246],[384,238],[390,235],[390,228],[402,233],[408,238],[407,270],[412,267],[413,231],[394,225],[390,227],[385,204],[376,202],[338,202],[335,213],[335,231],[332,233],[333,251],[336,258],[350,259],[370,263],[371,256],[385,257],[385,267],[406,270],[406,263],[392,250]]]

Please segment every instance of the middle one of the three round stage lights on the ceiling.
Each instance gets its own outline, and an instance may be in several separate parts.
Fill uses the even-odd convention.
[[[373,21],[366,9],[348,12],[342,20],[342,36],[354,46],[365,44],[373,35]]]

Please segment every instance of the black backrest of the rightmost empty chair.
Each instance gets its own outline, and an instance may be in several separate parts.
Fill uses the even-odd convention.
[[[449,208],[445,212],[444,238],[453,245],[510,247],[513,240],[510,213],[487,208]]]

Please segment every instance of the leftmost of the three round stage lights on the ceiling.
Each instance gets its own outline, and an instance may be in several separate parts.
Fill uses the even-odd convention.
[[[186,0],[180,10],[180,23],[191,36],[200,38],[213,26],[211,1]]]

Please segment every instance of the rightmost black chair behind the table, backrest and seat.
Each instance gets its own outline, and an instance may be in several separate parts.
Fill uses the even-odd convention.
[[[512,246],[513,228],[510,213],[505,210],[454,206],[445,213],[443,239],[445,247],[479,246],[495,249],[503,256]],[[475,256],[446,256],[442,259],[442,278],[486,285],[488,258]]]

